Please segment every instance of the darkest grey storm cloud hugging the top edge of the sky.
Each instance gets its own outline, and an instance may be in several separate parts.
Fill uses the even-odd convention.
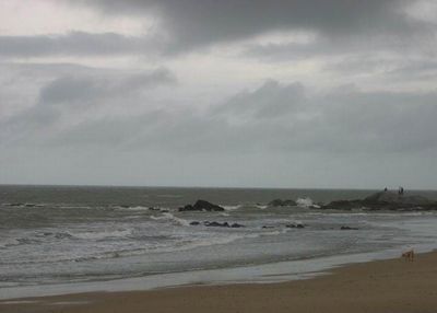
[[[173,49],[176,50],[243,39],[270,31],[310,31],[335,37],[405,33],[420,27],[420,23],[412,23],[401,12],[409,2],[399,0],[110,0],[81,3],[110,14],[157,15],[161,25],[173,36]]]

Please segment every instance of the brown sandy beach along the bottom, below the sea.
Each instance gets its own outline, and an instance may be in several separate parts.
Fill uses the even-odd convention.
[[[436,312],[437,252],[354,264],[308,280],[0,301],[16,312]]]

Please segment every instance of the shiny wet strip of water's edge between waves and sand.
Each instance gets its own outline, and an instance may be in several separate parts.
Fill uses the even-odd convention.
[[[414,247],[417,253],[436,250],[435,245],[423,244]],[[288,260],[256,266],[191,270],[158,274],[144,277],[123,278],[106,281],[69,282],[45,286],[1,288],[0,300],[63,295],[84,292],[146,291],[187,286],[221,286],[236,283],[275,283],[311,279],[331,274],[333,268],[357,263],[398,258],[402,250],[390,248],[379,252],[336,255],[304,260]]]

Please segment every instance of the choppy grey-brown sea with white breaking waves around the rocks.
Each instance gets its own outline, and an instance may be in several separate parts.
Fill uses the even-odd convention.
[[[327,212],[305,207],[310,201],[362,198],[371,193],[0,186],[0,293],[8,287],[315,259],[436,243],[434,212]],[[437,198],[436,192],[421,194]],[[268,208],[274,198],[302,199],[302,206]],[[225,206],[226,211],[177,212],[197,199]],[[245,228],[194,227],[191,221],[238,222]],[[286,228],[291,223],[307,227]],[[342,231],[342,225],[358,230]]]

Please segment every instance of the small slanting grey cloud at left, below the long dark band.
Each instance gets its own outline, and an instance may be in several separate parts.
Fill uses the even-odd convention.
[[[59,72],[63,69],[61,67]],[[80,68],[76,74],[61,76],[47,82],[40,88],[33,106],[4,119],[0,125],[0,142],[31,144],[56,140],[56,134],[61,132],[66,123],[98,121],[99,114],[122,112],[127,103],[144,101],[152,89],[175,83],[175,76],[164,68],[144,72]],[[105,107],[104,112],[96,113],[99,107]],[[84,135],[84,138],[90,136]]]

